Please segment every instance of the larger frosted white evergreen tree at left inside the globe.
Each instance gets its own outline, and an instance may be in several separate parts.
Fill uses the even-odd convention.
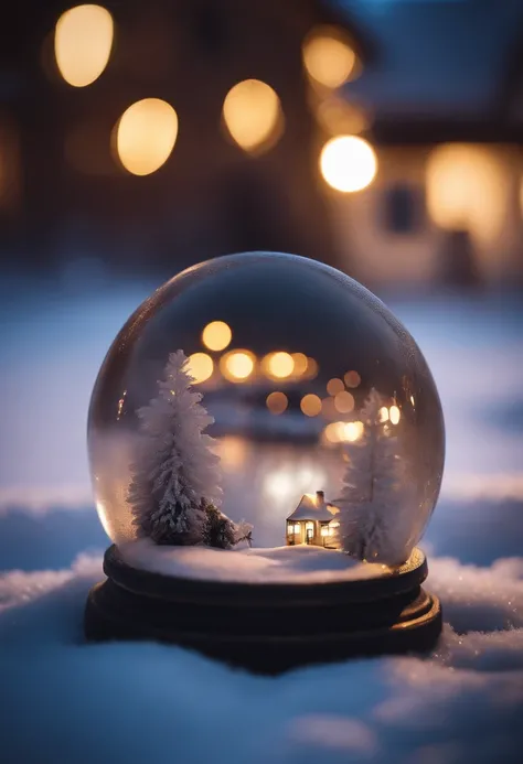
[[[137,411],[140,442],[128,501],[139,536],[157,544],[230,546],[235,526],[217,508],[220,459],[204,433],[214,420],[191,388],[186,363],[183,351],[172,353],[158,397]],[[212,537],[210,517],[221,523],[221,534]]]

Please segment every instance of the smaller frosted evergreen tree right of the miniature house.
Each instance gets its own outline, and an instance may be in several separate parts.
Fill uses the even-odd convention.
[[[407,538],[402,523],[404,465],[397,439],[381,421],[384,398],[371,389],[361,410],[359,441],[348,444],[340,505],[340,541],[350,555],[391,564],[404,562]]]

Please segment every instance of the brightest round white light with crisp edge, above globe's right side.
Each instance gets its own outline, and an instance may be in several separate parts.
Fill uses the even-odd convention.
[[[376,154],[363,138],[338,136],[324,144],[320,169],[325,182],[335,191],[362,191],[376,175]]]

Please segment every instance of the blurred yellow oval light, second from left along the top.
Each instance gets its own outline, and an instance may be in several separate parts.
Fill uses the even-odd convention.
[[[174,148],[177,112],[160,98],[145,98],[124,111],[116,130],[121,164],[134,175],[149,175],[167,162]]]

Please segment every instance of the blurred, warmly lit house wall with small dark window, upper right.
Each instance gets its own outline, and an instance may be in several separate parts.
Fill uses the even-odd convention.
[[[523,276],[519,147],[382,147],[376,153],[371,186],[355,194],[325,191],[346,272],[370,284],[426,284],[440,278],[449,234],[459,229],[470,237],[481,280]],[[409,230],[387,229],[394,189],[412,192]]]

